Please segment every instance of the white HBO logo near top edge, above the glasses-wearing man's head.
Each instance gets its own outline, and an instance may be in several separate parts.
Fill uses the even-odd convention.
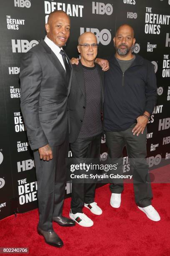
[[[96,5],[95,5],[96,4]],[[104,3],[98,3],[98,2],[92,2],[92,13],[96,14],[107,14],[111,15],[113,12],[113,8],[111,4],[104,4]]]

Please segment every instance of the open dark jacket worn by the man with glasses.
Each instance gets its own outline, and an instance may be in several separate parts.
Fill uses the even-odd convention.
[[[100,110],[102,112],[104,102],[104,72],[98,64],[96,64],[96,67],[101,81]],[[81,62],[79,62],[78,65],[72,65],[72,69],[72,83],[70,95],[68,97],[70,110],[70,143],[73,143],[78,137],[86,108],[85,82]]]

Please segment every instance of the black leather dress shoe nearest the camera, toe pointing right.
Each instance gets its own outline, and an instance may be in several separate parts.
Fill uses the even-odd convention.
[[[44,231],[37,227],[37,232],[40,236],[44,237],[45,243],[51,246],[62,247],[64,245],[60,237],[54,231]]]

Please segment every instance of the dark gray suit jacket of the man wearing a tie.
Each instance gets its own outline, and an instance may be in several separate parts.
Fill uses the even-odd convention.
[[[69,59],[67,57],[67,59]],[[70,82],[44,40],[28,51],[20,65],[21,110],[32,150],[63,143],[67,131]]]

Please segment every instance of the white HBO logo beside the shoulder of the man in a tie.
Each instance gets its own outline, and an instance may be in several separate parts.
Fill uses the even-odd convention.
[[[36,44],[39,44],[39,42],[36,40],[32,40],[29,42],[28,40],[17,39],[17,43],[16,43],[15,39],[12,39],[11,42],[12,42],[13,52],[27,52]]]

